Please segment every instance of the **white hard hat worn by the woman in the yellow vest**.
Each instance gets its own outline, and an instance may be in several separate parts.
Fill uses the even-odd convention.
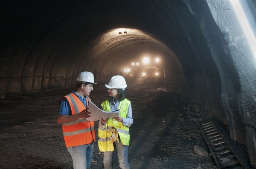
[[[125,90],[125,88],[127,87],[126,82],[125,82],[125,78],[123,76],[113,76],[110,81],[105,84],[105,86],[109,89],[122,89]]]

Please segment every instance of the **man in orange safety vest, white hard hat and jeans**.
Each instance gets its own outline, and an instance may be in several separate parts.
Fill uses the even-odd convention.
[[[91,72],[81,72],[76,79],[76,90],[60,99],[58,124],[67,150],[73,159],[74,169],[89,169],[95,142],[94,121],[90,117],[88,97],[93,90],[94,76]]]

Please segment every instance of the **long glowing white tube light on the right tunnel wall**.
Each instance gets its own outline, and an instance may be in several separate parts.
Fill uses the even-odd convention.
[[[256,57],[256,38],[253,34],[253,31],[250,28],[250,25],[247,21],[247,18],[244,14],[244,11],[239,3],[239,0],[230,0],[235,12],[236,16],[238,17],[238,20],[244,30],[244,34],[249,42],[249,45],[253,51],[254,56]]]

